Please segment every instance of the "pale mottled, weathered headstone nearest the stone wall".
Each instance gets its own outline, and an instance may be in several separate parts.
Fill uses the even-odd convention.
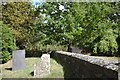
[[[42,78],[50,74],[50,54],[43,54],[40,61],[34,65],[34,77]]]

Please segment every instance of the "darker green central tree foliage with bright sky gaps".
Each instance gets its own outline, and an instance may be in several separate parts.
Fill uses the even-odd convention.
[[[64,4],[66,5],[66,4]],[[81,34],[82,28],[75,23],[73,15],[66,10],[59,9],[59,3],[44,3],[37,11],[44,15],[43,25],[37,19],[37,30],[44,38],[43,44],[74,44],[75,37]]]

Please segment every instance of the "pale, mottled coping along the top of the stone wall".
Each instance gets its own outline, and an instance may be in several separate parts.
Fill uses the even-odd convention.
[[[96,64],[101,67],[111,69],[111,70],[118,72],[118,65],[115,65],[115,63],[113,63],[113,62],[111,63],[111,62],[105,61],[103,59],[96,58],[95,56],[89,56],[89,55],[84,55],[84,54],[80,54],[80,53],[78,54],[78,53],[64,52],[64,51],[56,51],[56,52],[67,55],[67,56],[75,57],[75,58],[87,61],[89,63]]]

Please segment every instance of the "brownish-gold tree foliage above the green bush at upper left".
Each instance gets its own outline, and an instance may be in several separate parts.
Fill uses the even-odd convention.
[[[25,48],[34,36],[34,8],[29,2],[2,4],[2,20],[12,30],[17,45]]]

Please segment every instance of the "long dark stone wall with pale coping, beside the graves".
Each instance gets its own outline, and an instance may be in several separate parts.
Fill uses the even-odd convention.
[[[118,80],[118,66],[83,54],[57,51],[51,57],[63,66],[64,78]]]

